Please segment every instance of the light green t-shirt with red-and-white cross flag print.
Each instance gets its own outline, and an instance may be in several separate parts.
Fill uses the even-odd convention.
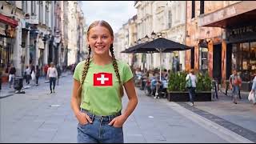
[[[126,62],[117,61],[122,84],[133,78],[130,66]],[[85,61],[79,62],[74,70],[74,79],[82,81],[82,70]],[[82,101],[80,107],[96,115],[111,115],[122,110],[119,95],[119,82],[112,63],[98,66],[90,61],[86,79],[82,85]]]

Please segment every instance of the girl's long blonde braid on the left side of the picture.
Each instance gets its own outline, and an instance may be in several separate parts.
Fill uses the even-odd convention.
[[[86,58],[86,62],[85,62],[85,65],[83,67],[83,70],[82,70],[82,81],[80,82],[80,86],[78,88],[78,104],[80,105],[81,104],[81,98],[82,98],[82,85],[83,85],[83,82],[85,81],[86,79],[86,74],[89,70],[89,66],[90,66],[90,52],[91,52],[91,48],[90,48],[90,45],[88,46],[89,47],[89,54],[88,54],[88,57]]]

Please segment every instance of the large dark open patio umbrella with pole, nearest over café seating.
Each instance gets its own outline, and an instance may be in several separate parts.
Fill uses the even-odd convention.
[[[166,38],[156,38],[153,41],[143,43],[140,46],[134,47],[132,50],[134,53],[147,53],[154,52],[160,53],[160,78],[162,73],[162,53],[179,51],[179,50],[190,50],[190,46],[183,45],[178,42],[174,42]]]

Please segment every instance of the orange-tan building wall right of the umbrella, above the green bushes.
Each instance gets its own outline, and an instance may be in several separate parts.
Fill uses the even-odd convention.
[[[207,14],[209,12],[212,12],[214,10],[218,10],[218,8],[221,8],[223,6],[222,1],[205,1],[205,13]],[[199,70],[199,47],[202,44],[202,42],[206,42],[206,45],[210,45],[208,47],[212,47],[214,44],[219,44],[222,42],[222,29],[216,28],[216,27],[198,27],[198,18],[200,15],[200,2],[195,1],[195,16],[194,18],[191,18],[192,14],[192,2],[187,2],[187,15],[186,15],[186,45],[188,46],[194,46],[194,69]],[[211,42],[210,42],[211,41]],[[212,57],[212,49],[208,49],[208,57]],[[190,70],[190,50],[186,50],[186,70]],[[208,62],[209,66],[209,73],[212,75],[212,61]]]

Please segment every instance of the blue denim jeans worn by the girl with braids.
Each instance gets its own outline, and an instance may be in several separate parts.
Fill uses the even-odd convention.
[[[98,116],[86,113],[93,123],[81,125],[78,123],[78,143],[123,143],[122,127],[114,127],[108,125],[115,117],[121,115]]]

